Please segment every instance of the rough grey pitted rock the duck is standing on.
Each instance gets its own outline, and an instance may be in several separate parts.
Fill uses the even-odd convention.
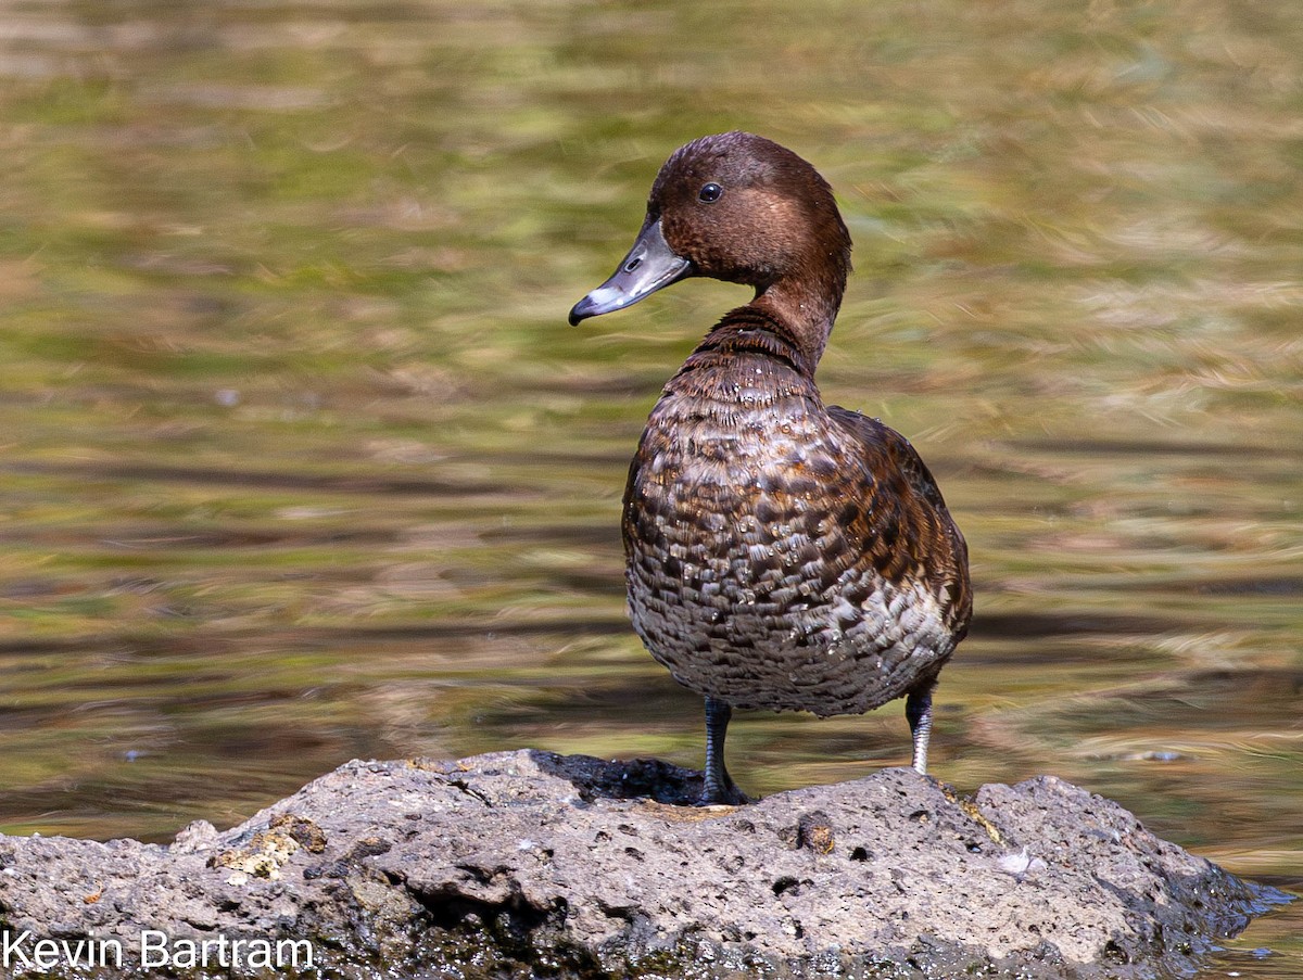
[[[886,769],[684,805],[700,783],[658,761],[534,751],[349,762],[172,847],[0,837],[3,966],[1151,976],[1285,901],[1053,777],[967,799]]]

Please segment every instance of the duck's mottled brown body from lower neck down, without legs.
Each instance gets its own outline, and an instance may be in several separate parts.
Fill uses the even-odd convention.
[[[629,609],[652,654],[736,708],[859,713],[967,629],[964,542],[909,443],[825,408],[797,349],[726,318],[666,386],[629,470]]]

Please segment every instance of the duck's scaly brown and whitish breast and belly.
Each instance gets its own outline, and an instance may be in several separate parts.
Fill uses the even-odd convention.
[[[687,687],[737,708],[843,714],[898,697],[954,648],[938,598],[865,541],[860,447],[810,383],[670,391],[629,472],[629,611]],[[872,536],[872,532],[868,532]]]

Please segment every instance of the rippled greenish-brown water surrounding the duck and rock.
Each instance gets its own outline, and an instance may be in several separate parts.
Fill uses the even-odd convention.
[[[564,317],[666,154],[744,128],[856,241],[827,399],[915,442],[972,547],[934,771],[1052,771],[1298,889],[1289,5],[0,12],[5,831],[165,841],[354,756],[700,764],[619,498],[745,293]],[[754,792],[907,757],[899,705],[730,730]],[[1300,936],[1208,976],[1303,977]]]

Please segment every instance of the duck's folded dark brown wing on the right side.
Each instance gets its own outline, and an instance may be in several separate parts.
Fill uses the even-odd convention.
[[[958,642],[972,618],[968,546],[941,487],[900,433],[839,405],[827,413],[864,463],[863,493],[843,510],[843,526],[850,524],[847,530],[860,536],[865,559],[885,579],[926,585],[941,601]]]

